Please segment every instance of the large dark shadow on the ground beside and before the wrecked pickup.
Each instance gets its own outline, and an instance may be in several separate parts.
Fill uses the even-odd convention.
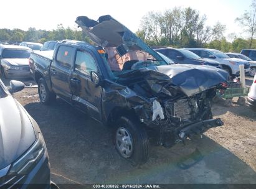
[[[171,149],[152,147],[148,162],[136,168],[118,156],[108,127],[61,99],[25,108],[44,134],[55,183],[256,183],[249,165],[206,136]],[[192,159],[198,162],[181,166]]]

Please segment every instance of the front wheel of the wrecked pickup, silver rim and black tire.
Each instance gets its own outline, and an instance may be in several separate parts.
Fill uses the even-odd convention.
[[[113,142],[118,154],[132,165],[142,165],[148,160],[148,134],[138,121],[121,116],[113,129]]]

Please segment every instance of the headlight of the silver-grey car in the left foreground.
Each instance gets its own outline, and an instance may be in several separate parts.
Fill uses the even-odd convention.
[[[16,162],[12,164],[8,175],[27,175],[31,172],[45,152],[45,144],[42,134],[38,134],[37,141],[22,155]]]

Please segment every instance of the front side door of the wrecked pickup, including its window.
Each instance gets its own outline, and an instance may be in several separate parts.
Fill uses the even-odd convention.
[[[102,87],[91,81],[91,71],[99,72],[93,53],[78,49],[75,53],[75,66],[70,78],[72,103],[83,112],[100,120]]]

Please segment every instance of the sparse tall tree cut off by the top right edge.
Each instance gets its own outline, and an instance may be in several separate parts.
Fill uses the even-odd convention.
[[[237,17],[235,21],[239,22],[239,24],[244,27],[244,32],[250,35],[249,48],[251,48],[256,31],[256,0],[252,1],[250,11],[245,11],[244,14],[241,17]]]

